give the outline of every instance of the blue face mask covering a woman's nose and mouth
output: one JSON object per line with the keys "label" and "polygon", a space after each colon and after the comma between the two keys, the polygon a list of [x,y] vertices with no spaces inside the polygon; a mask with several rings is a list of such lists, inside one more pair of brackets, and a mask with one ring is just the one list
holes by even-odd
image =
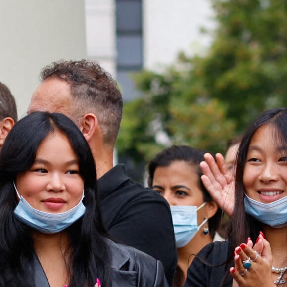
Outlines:
{"label": "blue face mask covering a woman's nose and mouth", "polygon": [[207,222],[208,218],[205,218],[203,222],[197,226],[197,211],[205,204],[206,202],[199,207],[191,205],[176,205],[170,207],[177,248],[187,245],[197,231]]}

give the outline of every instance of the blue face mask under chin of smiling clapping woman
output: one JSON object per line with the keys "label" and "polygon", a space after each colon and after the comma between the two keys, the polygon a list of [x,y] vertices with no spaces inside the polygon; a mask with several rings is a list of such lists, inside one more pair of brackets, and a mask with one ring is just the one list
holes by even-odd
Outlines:
{"label": "blue face mask under chin of smiling clapping woman", "polygon": [[257,219],[273,228],[287,226],[287,196],[270,203],[261,203],[245,193],[245,211]]}

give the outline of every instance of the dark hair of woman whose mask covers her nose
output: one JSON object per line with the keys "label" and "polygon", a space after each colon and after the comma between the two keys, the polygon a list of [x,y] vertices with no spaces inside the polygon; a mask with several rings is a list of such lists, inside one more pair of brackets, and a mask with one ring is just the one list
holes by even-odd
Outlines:
{"label": "dark hair of woman whose mask covers her nose", "polygon": [[[169,166],[174,161],[185,161],[191,167],[195,168],[197,176],[198,176],[198,186],[203,194],[204,202],[212,201],[212,197],[204,187],[201,176],[202,171],[199,166],[201,161],[204,161],[204,153],[207,151],[193,148],[188,145],[173,145],[168,147],[161,152],[159,152],[148,164],[147,172],[148,172],[148,186],[152,188],[152,182],[154,177],[154,172],[159,166]],[[213,238],[215,235],[215,231],[217,230],[220,220],[221,220],[222,210],[220,208],[217,209],[214,216],[208,219],[208,229],[210,232],[210,236]]]}

